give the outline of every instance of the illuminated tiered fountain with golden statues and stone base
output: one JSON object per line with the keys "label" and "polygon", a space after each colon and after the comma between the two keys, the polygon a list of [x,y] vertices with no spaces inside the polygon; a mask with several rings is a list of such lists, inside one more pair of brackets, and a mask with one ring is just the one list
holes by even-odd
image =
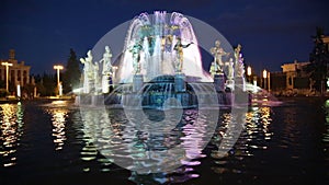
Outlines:
{"label": "illuminated tiered fountain with golden statues and stone base", "polygon": [[122,107],[139,101],[143,107],[161,108],[172,97],[183,107],[195,107],[197,86],[214,88],[217,105],[230,105],[235,86],[246,91],[240,45],[230,54],[216,41],[209,51],[214,56],[211,74],[202,68],[197,39],[184,15],[166,11],[141,13],[131,22],[118,60],[112,63],[109,46],[100,61],[93,61],[90,50],[87,58],[80,59],[84,72],[79,102]]}

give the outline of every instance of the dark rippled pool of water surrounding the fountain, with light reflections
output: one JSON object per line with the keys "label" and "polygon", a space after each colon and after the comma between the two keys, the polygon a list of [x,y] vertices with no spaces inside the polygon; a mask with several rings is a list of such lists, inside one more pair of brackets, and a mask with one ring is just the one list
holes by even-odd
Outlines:
{"label": "dark rippled pool of water surrounding the fountain, with light reflections", "polygon": [[[209,130],[197,109],[184,109],[179,126],[159,135],[136,130],[122,109],[83,112],[56,100],[0,104],[0,184],[328,184],[329,101],[281,101],[249,107],[243,130],[224,158],[218,148],[231,120],[228,109],[219,111],[204,143]],[[158,111],[148,115],[163,117]],[[196,117],[204,129],[193,127]],[[114,163],[175,146],[192,160],[172,160],[182,158],[180,152],[151,157],[159,166],[179,161],[170,173],[140,174]]]}

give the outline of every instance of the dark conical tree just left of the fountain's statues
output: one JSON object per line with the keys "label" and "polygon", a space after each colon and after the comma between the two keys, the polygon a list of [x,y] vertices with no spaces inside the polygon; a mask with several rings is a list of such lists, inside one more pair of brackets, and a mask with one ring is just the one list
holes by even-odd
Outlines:
{"label": "dark conical tree just left of the fountain's statues", "polygon": [[79,88],[81,78],[80,62],[73,49],[70,49],[70,56],[67,60],[66,70],[63,74],[64,93],[71,92]]}

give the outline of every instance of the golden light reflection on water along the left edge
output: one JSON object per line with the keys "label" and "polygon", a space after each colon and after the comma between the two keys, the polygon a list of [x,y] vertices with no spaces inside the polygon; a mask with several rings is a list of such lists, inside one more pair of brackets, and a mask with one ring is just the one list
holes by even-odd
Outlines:
{"label": "golden light reflection on water along the left edge", "polygon": [[16,164],[16,147],[23,134],[23,108],[22,104],[0,105],[0,163],[3,166]]}

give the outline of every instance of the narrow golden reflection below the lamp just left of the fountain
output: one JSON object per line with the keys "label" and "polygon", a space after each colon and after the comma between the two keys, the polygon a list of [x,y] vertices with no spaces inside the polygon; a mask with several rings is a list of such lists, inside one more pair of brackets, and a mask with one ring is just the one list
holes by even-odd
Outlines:
{"label": "narrow golden reflection below the lamp just left of the fountain", "polygon": [[61,150],[66,136],[65,136],[65,124],[68,116],[68,109],[66,107],[66,101],[53,101],[52,106],[47,108],[47,112],[53,116],[53,134],[55,150]]}

